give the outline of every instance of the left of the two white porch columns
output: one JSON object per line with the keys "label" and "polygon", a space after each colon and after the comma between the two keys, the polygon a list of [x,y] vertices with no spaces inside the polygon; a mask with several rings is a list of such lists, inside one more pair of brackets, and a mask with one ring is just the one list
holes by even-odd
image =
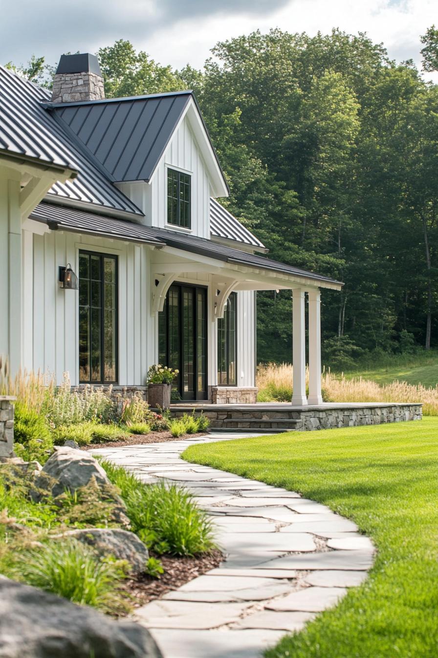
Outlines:
{"label": "left of the two white porch columns", "polygon": [[294,365],[293,405],[307,405],[305,385],[305,306],[304,290],[292,291],[292,359]]}

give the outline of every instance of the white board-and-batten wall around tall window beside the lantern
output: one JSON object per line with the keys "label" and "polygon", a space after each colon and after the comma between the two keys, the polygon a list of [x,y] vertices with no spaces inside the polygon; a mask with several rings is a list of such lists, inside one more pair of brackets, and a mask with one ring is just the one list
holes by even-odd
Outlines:
{"label": "white board-and-batten wall around tall window beside the lantern", "polygon": [[149,247],[62,231],[24,230],[22,248],[22,366],[55,374],[58,384],[69,372],[72,384],[79,383],[78,292],[58,286],[58,266],[70,263],[77,274],[83,249],[118,256],[119,384],[144,384],[148,363],[154,360],[147,340],[154,336],[148,308]]}

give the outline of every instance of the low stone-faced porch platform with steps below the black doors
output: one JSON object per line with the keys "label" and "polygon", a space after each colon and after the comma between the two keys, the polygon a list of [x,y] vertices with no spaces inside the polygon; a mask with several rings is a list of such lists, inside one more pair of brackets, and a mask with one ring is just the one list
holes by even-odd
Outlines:
{"label": "low stone-faced porch platform with steps below the black doors", "polygon": [[171,405],[171,416],[185,413],[209,418],[215,430],[252,432],[287,432],[291,430],[323,430],[386,422],[421,420],[420,403],[321,403],[294,405],[287,402],[257,404],[211,403]]}

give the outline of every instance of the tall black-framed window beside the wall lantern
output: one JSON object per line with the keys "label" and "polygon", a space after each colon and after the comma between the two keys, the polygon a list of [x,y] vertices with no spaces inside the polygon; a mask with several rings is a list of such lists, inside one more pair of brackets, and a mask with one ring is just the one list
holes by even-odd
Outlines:
{"label": "tall black-framed window beside the wall lantern", "polygon": [[118,261],[79,251],[79,382],[118,380]]}

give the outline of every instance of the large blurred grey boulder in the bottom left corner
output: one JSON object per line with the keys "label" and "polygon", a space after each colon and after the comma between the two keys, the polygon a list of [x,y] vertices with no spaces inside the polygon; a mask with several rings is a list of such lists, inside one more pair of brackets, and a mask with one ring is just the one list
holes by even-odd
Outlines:
{"label": "large blurred grey boulder in the bottom left corner", "polygon": [[0,576],[0,658],[162,658],[146,628]]}

